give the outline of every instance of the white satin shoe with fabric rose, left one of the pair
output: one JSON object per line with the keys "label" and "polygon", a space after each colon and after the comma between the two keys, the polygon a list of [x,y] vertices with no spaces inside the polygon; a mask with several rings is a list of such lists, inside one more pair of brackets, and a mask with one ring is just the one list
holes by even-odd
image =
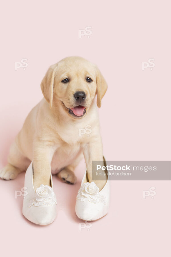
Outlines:
{"label": "white satin shoe with fabric rose, left one of the pair", "polygon": [[56,218],[56,196],[53,192],[52,174],[50,174],[51,186],[41,185],[35,192],[32,163],[25,174],[25,190],[28,194],[23,199],[23,215],[35,224],[48,225]]}

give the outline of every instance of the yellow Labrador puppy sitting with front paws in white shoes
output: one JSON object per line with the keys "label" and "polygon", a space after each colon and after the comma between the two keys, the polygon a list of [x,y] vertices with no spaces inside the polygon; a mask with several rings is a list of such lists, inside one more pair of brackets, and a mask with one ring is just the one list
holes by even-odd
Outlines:
{"label": "yellow Labrador puppy sitting with front paws in white shoes", "polygon": [[[83,154],[89,182],[92,160],[103,160],[97,106],[107,90],[99,69],[82,57],[67,57],[51,65],[41,83],[44,98],[28,114],[15,138],[0,178],[10,180],[33,160],[33,184],[50,185],[50,172],[69,184]],[[89,125],[91,134],[82,134]],[[90,127],[91,126],[91,127]],[[81,134],[81,135],[80,135]],[[101,190],[106,181],[96,181]]]}

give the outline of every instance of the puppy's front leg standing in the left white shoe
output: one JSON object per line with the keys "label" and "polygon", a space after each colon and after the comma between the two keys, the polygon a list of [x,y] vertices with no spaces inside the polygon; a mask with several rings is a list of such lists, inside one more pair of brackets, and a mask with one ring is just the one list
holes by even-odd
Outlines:
{"label": "puppy's front leg standing in the left white shoe", "polygon": [[34,189],[41,184],[50,186],[51,161],[56,151],[54,143],[48,141],[34,142],[33,185]]}

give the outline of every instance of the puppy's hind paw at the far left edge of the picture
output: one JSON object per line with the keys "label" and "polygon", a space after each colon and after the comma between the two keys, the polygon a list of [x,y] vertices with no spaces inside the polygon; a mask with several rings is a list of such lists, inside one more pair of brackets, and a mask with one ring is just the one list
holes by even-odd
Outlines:
{"label": "puppy's hind paw at the far left edge of the picture", "polygon": [[15,179],[18,175],[18,170],[11,164],[7,164],[4,168],[0,170],[0,178],[3,180]]}

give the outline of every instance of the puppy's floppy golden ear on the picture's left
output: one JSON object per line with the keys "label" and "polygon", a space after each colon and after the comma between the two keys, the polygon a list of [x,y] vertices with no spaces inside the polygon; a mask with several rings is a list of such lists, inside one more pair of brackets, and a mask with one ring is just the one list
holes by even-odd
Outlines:
{"label": "puppy's floppy golden ear on the picture's left", "polygon": [[51,65],[46,72],[46,75],[42,79],[42,83],[40,85],[44,98],[49,103],[50,109],[52,108],[53,104],[54,78],[57,68],[58,64]]}

